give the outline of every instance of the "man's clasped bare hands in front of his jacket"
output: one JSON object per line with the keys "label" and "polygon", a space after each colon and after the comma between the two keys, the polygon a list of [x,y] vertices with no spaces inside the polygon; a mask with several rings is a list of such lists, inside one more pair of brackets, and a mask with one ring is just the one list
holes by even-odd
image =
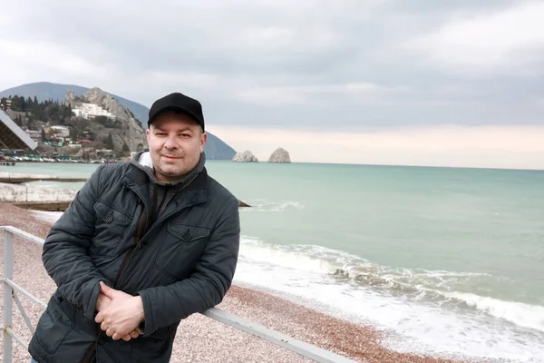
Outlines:
{"label": "man's clasped bare hands in front of his jacket", "polygon": [[140,296],[132,296],[119,289],[112,289],[102,281],[101,293],[96,301],[98,314],[94,321],[113,340],[138,338],[143,332],[139,328],[144,318]]}

